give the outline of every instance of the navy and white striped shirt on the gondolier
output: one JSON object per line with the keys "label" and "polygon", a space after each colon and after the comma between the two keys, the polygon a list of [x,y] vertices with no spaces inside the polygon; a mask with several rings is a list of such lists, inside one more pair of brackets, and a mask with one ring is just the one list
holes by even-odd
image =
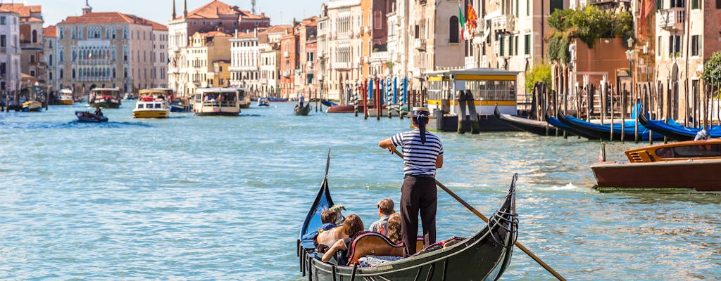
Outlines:
{"label": "navy and white striped shirt on the gondolier", "polygon": [[391,142],[395,147],[403,149],[403,175],[435,176],[435,159],[443,155],[441,139],[425,132],[425,144],[420,142],[420,131],[394,134]]}

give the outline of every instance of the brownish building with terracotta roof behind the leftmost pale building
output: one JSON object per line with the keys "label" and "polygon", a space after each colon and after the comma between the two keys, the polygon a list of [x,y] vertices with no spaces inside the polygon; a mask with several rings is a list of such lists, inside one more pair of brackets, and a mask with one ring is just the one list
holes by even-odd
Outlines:
{"label": "brownish building with terracotta roof behind the leftmost pale building", "polygon": [[[25,4],[0,4],[0,9],[14,11],[19,19],[20,73],[30,83],[45,83],[45,62],[43,61],[43,14],[42,6]],[[26,82],[28,83],[28,82]]]}

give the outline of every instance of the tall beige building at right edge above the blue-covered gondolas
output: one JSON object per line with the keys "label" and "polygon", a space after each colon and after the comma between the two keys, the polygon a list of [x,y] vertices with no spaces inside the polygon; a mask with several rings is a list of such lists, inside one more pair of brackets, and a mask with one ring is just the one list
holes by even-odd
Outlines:
{"label": "tall beige building at right edge above the blue-covered gondolas", "polygon": [[[657,1],[655,86],[663,111],[658,116],[701,120],[704,61],[721,50],[720,1]],[[643,66],[642,63],[637,66]],[[640,77],[642,79],[642,77]],[[653,78],[652,78],[653,79]],[[695,117],[695,118],[694,118]],[[689,123],[689,126],[692,124]]]}

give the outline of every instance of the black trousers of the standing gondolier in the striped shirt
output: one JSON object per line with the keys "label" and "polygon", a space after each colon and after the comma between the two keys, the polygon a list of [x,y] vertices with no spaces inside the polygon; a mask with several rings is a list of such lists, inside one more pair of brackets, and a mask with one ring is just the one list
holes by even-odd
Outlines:
{"label": "black trousers of the standing gondolier in the striped shirt", "polygon": [[403,252],[406,256],[415,254],[418,235],[418,213],[423,225],[425,247],[435,243],[435,211],[438,205],[438,190],[435,178],[406,177],[401,187],[401,233]]}

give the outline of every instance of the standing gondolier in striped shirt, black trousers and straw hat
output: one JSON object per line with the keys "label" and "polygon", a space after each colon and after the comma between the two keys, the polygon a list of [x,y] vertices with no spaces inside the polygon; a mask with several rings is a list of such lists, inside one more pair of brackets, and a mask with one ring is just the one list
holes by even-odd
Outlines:
{"label": "standing gondolier in striped shirt, black trousers and straw hat", "polygon": [[393,153],[396,147],[403,150],[403,185],[400,213],[404,255],[416,252],[418,213],[423,225],[425,247],[435,243],[435,211],[438,190],[435,189],[435,170],[443,167],[441,139],[425,130],[428,108],[414,107],[411,111],[413,130],[381,140],[379,147]]}

